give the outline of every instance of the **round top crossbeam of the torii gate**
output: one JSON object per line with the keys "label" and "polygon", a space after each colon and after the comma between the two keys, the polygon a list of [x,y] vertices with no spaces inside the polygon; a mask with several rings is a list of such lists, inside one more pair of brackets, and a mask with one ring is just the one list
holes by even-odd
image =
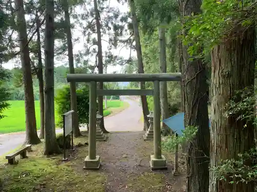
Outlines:
{"label": "round top crossbeam of the torii gate", "polygon": [[136,74],[67,74],[67,81],[76,82],[139,82],[180,81],[181,73],[136,73]]}

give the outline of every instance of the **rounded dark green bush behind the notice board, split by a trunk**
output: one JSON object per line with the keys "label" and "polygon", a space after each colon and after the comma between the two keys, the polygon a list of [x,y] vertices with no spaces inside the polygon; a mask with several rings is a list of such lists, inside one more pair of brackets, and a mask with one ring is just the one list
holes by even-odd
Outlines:
{"label": "rounded dark green bush behind the notice board, split by a trunk", "polygon": [[[77,104],[78,104],[78,116],[79,124],[88,123],[89,115],[89,90],[88,87],[82,87],[77,89]],[[70,87],[64,86],[57,91],[57,96],[55,97],[57,105],[57,113],[59,116],[58,125],[63,125],[62,114],[70,111]]]}

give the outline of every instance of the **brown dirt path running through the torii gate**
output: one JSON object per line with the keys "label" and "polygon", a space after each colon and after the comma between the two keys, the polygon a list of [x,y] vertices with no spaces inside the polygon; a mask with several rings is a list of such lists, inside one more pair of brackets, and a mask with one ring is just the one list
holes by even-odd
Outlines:
{"label": "brown dirt path running through the torii gate", "polygon": [[97,154],[102,161],[101,169],[107,175],[105,191],[185,191],[185,177],[172,175],[172,154],[165,154],[168,170],[150,170],[153,141],[143,141],[143,134],[144,132],[113,132],[109,134],[107,141],[97,143]]}

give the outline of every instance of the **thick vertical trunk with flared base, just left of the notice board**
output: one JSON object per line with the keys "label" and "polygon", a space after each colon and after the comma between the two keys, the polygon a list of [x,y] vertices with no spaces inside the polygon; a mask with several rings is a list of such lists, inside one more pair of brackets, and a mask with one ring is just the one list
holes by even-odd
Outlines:
{"label": "thick vertical trunk with flared base, just left of the notice board", "polygon": [[45,1],[45,147],[44,155],[60,154],[54,122],[54,3]]}

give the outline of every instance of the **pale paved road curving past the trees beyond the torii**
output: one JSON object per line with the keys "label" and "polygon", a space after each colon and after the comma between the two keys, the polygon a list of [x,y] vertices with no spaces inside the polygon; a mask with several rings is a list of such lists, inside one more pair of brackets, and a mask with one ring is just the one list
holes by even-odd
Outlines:
{"label": "pale paved road curving past the trees beyond the torii", "polygon": [[[143,124],[140,122],[142,115],[141,107],[137,101],[126,99],[130,106],[111,117],[104,118],[107,131],[142,131]],[[82,128],[83,129],[83,128]],[[39,135],[40,132],[38,132]],[[56,133],[62,133],[62,130],[56,130]],[[0,156],[21,146],[25,140],[25,133],[0,134]]]}

